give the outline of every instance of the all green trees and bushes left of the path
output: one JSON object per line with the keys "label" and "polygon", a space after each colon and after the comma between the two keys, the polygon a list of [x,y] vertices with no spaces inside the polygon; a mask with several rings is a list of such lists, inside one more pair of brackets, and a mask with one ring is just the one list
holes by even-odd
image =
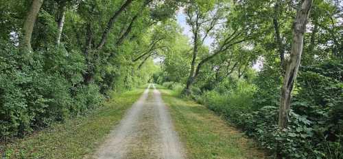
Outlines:
{"label": "all green trees and bushes left of the path", "polygon": [[84,115],[111,92],[147,83],[158,70],[150,57],[175,41],[169,18],[176,9],[150,0],[2,0],[1,141]]}

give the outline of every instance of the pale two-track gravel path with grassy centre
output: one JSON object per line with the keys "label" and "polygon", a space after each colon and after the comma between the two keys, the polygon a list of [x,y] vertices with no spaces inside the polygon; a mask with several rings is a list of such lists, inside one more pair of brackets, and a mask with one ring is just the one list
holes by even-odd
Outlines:
{"label": "pale two-track gravel path with grassy centre", "polygon": [[149,85],[93,157],[183,159],[182,149],[161,93]]}

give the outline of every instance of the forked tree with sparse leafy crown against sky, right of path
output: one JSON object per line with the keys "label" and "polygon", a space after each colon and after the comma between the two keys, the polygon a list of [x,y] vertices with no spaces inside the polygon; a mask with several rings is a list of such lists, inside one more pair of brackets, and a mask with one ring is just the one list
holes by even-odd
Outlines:
{"label": "forked tree with sparse leafy crown against sky, right of path", "polygon": [[[184,90],[184,93],[190,94],[191,86],[200,74],[202,66],[217,57],[217,55],[225,53],[231,46],[248,40],[249,35],[247,35],[246,28],[232,27],[227,22],[226,16],[228,15],[225,13],[228,12],[228,3],[190,4],[185,12],[187,14],[187,23],[191,26],[193,33],[191,70]],[[226,25],[222,25],[223,23],[226,23]],[[224,31],[219,31],[218,28]],[[199,49],[210,34],[217,35],[215,37],[216,48],[206,52],[205,55],[202,55],[202,59],[197,62]]]}

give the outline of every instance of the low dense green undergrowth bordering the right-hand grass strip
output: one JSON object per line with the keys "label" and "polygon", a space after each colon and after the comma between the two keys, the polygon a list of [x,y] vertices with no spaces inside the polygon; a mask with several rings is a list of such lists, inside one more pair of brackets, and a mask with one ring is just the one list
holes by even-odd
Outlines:
{"label": "low dense green undergrowth bordering the right-hand grass strip", "polygon": [[[343,158],[343,65],[325,61],[301,68],[289,113],[279,130],[279,78],[263,68],[246,78],[228,78],[213,89],[193,88],[193,98],[222,115],[248,136],[285,158]],[[265,76],[269,76],[268,81]],[[274,80],[273,80],[274,79]],[[181,92],[180,83],[163,83]],[[279,149],[277,149],[279,148]]]}

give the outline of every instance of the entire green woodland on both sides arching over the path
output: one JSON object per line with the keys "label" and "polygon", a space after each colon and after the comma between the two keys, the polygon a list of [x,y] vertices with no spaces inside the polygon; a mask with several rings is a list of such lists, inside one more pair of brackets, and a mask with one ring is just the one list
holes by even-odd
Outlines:
{"label": "entire green woodland on both sides arching over the path", "polygon": [[1,143],[154,82],[276,158],[343,158],[340,0],[1,0],[0,14]]}

